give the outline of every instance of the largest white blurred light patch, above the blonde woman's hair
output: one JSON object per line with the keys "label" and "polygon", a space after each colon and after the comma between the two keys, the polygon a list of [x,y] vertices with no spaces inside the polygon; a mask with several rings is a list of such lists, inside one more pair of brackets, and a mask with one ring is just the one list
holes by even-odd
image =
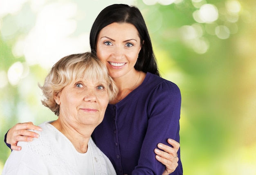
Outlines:
{"label": "largest white blurred light patch, above the blonde woman's hair", "polygon": [[40,64],[43,68],[49,68],[65,55],[90,49],[87,33],[70,36],[76,31],[77,22],[72,19],[76,14],[77,4],[71,2],[42,7],[35,27],[24,40],[23,52],[29,65]]}

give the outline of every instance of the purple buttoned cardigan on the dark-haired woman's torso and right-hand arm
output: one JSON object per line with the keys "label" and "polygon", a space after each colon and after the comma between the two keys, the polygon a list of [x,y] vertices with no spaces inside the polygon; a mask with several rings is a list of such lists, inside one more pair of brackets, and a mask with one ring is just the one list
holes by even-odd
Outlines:
{"label": "purple buttoned cardigan on the dark-haired woman's torso and right-hand arm", "polygon": [[[147,73],[126,98],[108,105],[92,137],[118,175],[162,175],[165,166],[155,159],[154,149],[160,142],[168,145],[168,138],[180,142],[180,105],[177,85]],[[182,175],[178,164],[171,175]]]}

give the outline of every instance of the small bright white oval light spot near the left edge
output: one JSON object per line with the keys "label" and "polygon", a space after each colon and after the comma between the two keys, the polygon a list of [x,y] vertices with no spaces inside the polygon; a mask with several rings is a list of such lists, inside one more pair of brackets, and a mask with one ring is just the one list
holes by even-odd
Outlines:
{"label": "small bright white oval light spot near the left edge", "polygon": [[16,62],[8,70],[7,76],[11,85],[17,85],[22,77],[23,65],[20,62]]}

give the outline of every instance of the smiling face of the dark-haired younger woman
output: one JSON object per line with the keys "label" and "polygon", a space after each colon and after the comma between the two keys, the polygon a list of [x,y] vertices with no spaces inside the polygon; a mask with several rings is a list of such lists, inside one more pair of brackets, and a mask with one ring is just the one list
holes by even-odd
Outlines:
{"label": "smiling face of the dark-haired younger woman", "polygon": [[130,23],[113,22],[99,32],[97,56],[106,65],[112,78],[135,71],[140,49],[139,33]]}

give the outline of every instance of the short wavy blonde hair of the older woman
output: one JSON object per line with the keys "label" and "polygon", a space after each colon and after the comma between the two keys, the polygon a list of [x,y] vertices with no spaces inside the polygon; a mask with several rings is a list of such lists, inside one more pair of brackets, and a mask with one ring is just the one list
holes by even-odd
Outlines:
{"label": "short wavy blonde hair of the older woman", "polygon": [[108,75],[106,66],[101,63],[95,54],[85,52],[65,56],[52,67],[45,78],[44,85],[38,85],[43,91],[43,96],[45,96],[45,99],[41,100],[43,105],[58,116],[60,106],[56,103],[54,96],[58,95],[65,86],[74,83],[81,77],[106,81],[109,101],[115,98],[118,89],[115,82]]}

